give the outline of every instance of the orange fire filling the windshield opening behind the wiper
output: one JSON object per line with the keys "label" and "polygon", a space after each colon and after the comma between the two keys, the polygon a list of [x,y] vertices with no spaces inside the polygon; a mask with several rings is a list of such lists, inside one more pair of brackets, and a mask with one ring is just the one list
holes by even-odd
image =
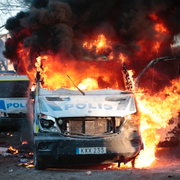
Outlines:
{"label": "orange fire filling the windshield opening behind the wiper", "polygon": [[[76,85],[84,84],[86,79],[86,82],[89,84],[93,82],[94,85],[91,85],[90,89],[118,89],[117,76],[119,76],[121,71],[121,64],[119,62],[69,60],[65,63],[59,61],[59,58],[59,56],[53,55],[38,57],[36,66],[38,66],[38,71],[40,71],[42,77],[41,82],[43,83],[41,86],[43,88],[49,90],[62,87],[74,89],[73,84],[67,78],[68,75]],[[112,67],[112,69],[109,69],[109,67]],[[82,84],[80,86],[82,86]],[[89,85],[87,85],[87,87],[89,87]]]}

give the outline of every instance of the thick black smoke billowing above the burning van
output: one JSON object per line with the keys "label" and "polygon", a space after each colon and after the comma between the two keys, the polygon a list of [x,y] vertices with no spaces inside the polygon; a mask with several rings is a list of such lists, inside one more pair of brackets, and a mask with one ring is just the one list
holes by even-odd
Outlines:
{"label": "thick black smoke billowing above the burning van", "polygon": [[[6,29],[14,34],[6,42],[4,55],[13,62],[19,42],[30,49],[33,57],[52,51],[77,60],[84,56],[96,58],[82,44],[104,34],[113,42],[105,55],[112,51],[117,56],[125,53],[130,68],[142,69],[150,59],[147,52],[142,58],[136,56],[142,50],[137,42],[147,41],[151,48],[149,42],[157,39],[155,23],[163,23],[170,33],[163,39],[160,53],[151,58],[171,55],[169,45],[180,32],[179,0],[26,0],[26,3],[31,3],[28,12],[20,12],[6,22]],[[158,20],[150,18],[150,14],[156,14]],[[28,33],[17,35],[23,29],[28,29]]]}

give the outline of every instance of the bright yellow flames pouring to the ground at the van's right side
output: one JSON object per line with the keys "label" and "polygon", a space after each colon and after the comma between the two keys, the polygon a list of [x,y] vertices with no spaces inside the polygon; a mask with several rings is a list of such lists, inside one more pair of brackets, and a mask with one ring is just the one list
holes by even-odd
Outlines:
{"label": "bright yellow flames pouring to the ground at the van's right side", "polygon": [[[144,150],[136,158],[136,168],[147,168],[155,161],[155,152],[160,140],[157,130],[168,126],[171,118],[178,116],[180,111],[180,95],[178,94],[180,80],[173,80],[172,85],[165,87],[160,93],[139,95],[136,100],[139,110],[139,125],[144,142]],[[166,96],[169,94],[169,96]],[[131,167],[131,163],[121,167]]]}

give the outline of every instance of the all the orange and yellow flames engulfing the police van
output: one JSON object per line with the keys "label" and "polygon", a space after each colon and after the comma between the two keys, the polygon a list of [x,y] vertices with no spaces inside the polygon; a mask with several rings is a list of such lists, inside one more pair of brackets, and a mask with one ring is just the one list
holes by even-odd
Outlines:
{"label": "all the orange and yellow flames engulfing the police van", "polygon": [[[137,45],[140,48],[134,52],[133,65],[137,64],[137,59],[145,59],[146,61],[143,62],[145,65],[150,59],[158,57],[161,43],[168,36],[169,31],[159,21],[158,17],[155,14],[151,14],[150,18],[154,21],[156,36],[153,39],[146,37],[137,40]],[[25,29],[22,33],[28,36],[30,32],[26,32]],[[36,71],[39,71],[42,78],[41,86],[49,90],[61,87],[75,89],[67,75],[82,90],[102,88],[122,89],[123,77],[121,66],[122,63],[127,63],[127,65],[132,67],[133,65],[131,65],[129,60],[132,57],[128,57],[125,50],[118,53],[117,51],[114,52],[113,43],[107,40],[103,34],[99,34],[96,40],[87,40],[82,46],[88,52],[90,51],[92,56],[84,57],[86,61],[77,61],[73,58],[66,59],[67,57],[54,54],[51,51],[47,51],[38,58],[34,58],[37,54],[31,55],[30,50],[23,48],[22,43],[19,43],[17,53],[18,59],[21,59],[21,61],[18,62],[18,67],[28,74],[32,83],[35,81]],[[128,72],[132,80],[133,71]],[[160,140],[157,129],[166,127],[168,121],[172,117],[177,116],[180,109],[178,105],[180,97],[177,93],[178,91],[175,92],[174,88],[176,87],[177,89],[178,83],[179,81],[172,81],[171,87],[166,87],[164,91],[153,96],[149,94],[136,95],[140,131],[145,145],[145,149],[141,151],[136,159],[136,167],[149,167],[152,164],[155,160],[156,146]],[[167,93],[168,96],[163,95]]]}

